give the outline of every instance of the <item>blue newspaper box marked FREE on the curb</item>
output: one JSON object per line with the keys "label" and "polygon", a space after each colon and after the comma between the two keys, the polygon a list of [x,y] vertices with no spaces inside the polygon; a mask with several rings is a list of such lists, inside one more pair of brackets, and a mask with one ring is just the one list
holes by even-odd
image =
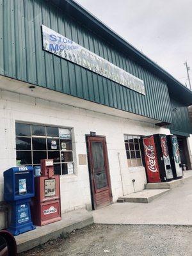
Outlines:
{"label": "blue newspaper box marked FREE on the curb", "polygon": [[4,201],[12,205],[8,228],[13,236],[35,229],[31,221],[30,201],[34,196],[33,166],[13,167],[4,173]]}

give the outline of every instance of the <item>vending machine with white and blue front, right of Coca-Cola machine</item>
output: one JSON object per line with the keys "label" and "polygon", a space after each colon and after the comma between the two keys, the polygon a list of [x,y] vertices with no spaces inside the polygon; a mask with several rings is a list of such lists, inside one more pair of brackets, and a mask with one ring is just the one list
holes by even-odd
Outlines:
{"label": "vending machine with white and blue front, right of Coca-Cola machine", "polygon": [[172,171],[174,179],[182,178],[182,164],[180,160],[179,143],[177,136],[168,135],[166,136],[168,141],[168,150],[170,154],[170,160],[172,163]]}

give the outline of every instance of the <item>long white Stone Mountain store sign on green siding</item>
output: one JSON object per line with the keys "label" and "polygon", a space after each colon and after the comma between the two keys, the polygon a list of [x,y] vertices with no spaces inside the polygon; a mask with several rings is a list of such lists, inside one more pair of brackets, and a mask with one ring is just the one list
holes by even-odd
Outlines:
{"label": "long white Stone Mountain store sign on green siding", "polygon": [[77,65],[92,70],[100,76],[107,77],[116,83],[122,84],[127,88],[145,95],[143,80],[132,76],[122,68],[101,58],[97,54],[85,49],[67,37],[56,33],[56,31],[42,25],[43,45],[45,51],[52,52],[72,61]]}

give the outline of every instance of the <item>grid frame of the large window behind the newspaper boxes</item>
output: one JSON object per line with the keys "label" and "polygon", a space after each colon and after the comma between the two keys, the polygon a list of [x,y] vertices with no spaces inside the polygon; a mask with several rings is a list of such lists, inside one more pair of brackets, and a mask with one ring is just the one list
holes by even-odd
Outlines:
{"label": "grid frame of the large window behind the newspaper boxes", "polygon": [[[23,135],[17,135],[17,132],[16,132],[16,124],[24,124],[24,125],[30,125],[30,132],[31,132],[31,136],[23,136]],[[45,127],[45,135],[33,135],[32,134],[32,126],[33,125],[37,125],[37,126],[42,126],[42,127]],[[57,136],[47,136],[47,127],[53,127],[53,128],[57,128],[58,129],[58,137]],[[60,138],[60,135],[59,135],[59,129],[68,129],[70,130],[70,138]],[[58,126],[58,125],[48,125],[48,124],[36,124],[36,123],[28,123],[28,122],[20,122],[20,121],[15,121],[15,150],[16,150],[16,166],[19,166],[17,165],[17,152],[31,152],[31,164],[22,164],[23,166],[29,166],[29,165],[32,165],[32,166],[39,166],[40,164],[36,164],[34,163],[34,159],[33,159],[33,152],[46,152],[46,157],[48,159],[48,155],[49,155],[49,152],[60,152],[60,161],[59,162],[54,162],[53,164],[54,165],[58,165],[60,164],[60,173],[59,174],[60,176],[63,176],[63,175],[72,175],[75,173],[75,170],[74,170],[74,166],[75,166],[75,161],[74,161],[74,141],[73,141],[73,138],[72,138],[72,127],[61,127],[61,126]],[[30,138],[30,141],[31,141],[31,149],[17,149],[17,139],[19,138]],[[45,145],[46,145],[46,149],[40,149],[40,150],[36,150],[36,149],[33,149],[33,138],[44,138],[45,139]],[[58,140],[58,145],[59,145],[59,148],[57,149],[48,149],[48,140],[49,139],[52,139],[52,140]],[[70,140],[70,143],[71,143],[71,150],[63,150],[61,148],[61,141],[65,141],[65,140]],[[61,161],[61,154],[62,152],[72,152],[72,161]],[[62,164],[68,164],[68,163],[72,163],[73,164],[73,173],[64,173],[64,170],[62,170]]]}

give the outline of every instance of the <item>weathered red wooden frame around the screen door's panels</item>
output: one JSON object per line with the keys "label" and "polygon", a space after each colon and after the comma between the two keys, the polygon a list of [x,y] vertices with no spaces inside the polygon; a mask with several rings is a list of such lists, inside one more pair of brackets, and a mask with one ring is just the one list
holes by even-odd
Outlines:
{"label": "weathered red wooden frame around the screen door's panels", "polygon": [[[97,205],[95,202],[95,191],[99,192],[99,191],[104,191],[109,189],[109,200],[110,200],[110,204],[113,202],[113,195],[112,195],[112,190],[111,190],[111,177],[110,177],[110,170],[109,170],[109,158],[108,158],[108,148],[107,148],[107,143],[106,143],[106,136],[102,136],[102,135],[97,135],[97,136],[90,136],[90,134],[85,134],[86,137],[86,150],[87,150],[87,158],[88,158],[88,172],[89,172],[89,178],[90,178],[90,191],[91,191],[91,197],[92,197],[92,210],[97,209]],[[105,158],[105,162],[106,162],[106,170],[108,170],[108,172],[106,172],[106,177],[107,177],[107,181],[108,181],[108,187],[109,188],[101,188],[101,189],[97,189],[95,188],[95,183],[93,182],[92,179],[92,170],[91,170],[91,152],[90,152],[90,147],[88,144],[88,138],[103,138],[104,139],[104,151],[106,152],[104,158]],[[97,141],[97,140],[96,140]],[[93,189],[95,189],[95,191],[93,191]]]}

